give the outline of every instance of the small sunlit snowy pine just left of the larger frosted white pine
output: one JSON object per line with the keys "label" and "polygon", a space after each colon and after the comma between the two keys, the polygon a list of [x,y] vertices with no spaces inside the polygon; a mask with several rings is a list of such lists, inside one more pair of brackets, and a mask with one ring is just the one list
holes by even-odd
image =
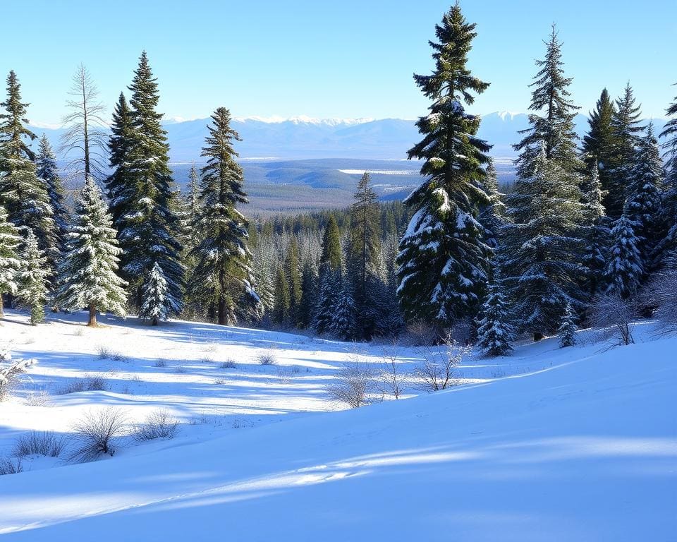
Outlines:
{"label": "small sunlit snowy pine just left of the larger frosted white pine", "polygon": [[30,229],[21,252],[23,263],[19,272],[18,298],[23,306],[30,309],[30,323],[37,325],[44,322],[51,270],[47,258],[37,246],[37,237]]}

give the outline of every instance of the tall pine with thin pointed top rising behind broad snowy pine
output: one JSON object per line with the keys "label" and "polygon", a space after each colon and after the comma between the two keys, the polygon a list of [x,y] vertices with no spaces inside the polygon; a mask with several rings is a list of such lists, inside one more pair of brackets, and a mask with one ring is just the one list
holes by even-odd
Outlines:
{"label": "tall pine with thin pointed top rising behind broad snowy pine", "polygon": [[516,166],[518,176],[522,178],[533,174],[541,150],[549,162],[563,171],[577,171],[581,167],[573,123],[580,108],[570,98],[568,87],[573,79],[564,76],[561,47],[555,25],[552,25],[545,58],[536,61],[540,69],[530,85],[535,87],[529,106],[533,112],[529,115],[531,126],[520,131],[524,137],[514,145],[515,150],[520,151]]}

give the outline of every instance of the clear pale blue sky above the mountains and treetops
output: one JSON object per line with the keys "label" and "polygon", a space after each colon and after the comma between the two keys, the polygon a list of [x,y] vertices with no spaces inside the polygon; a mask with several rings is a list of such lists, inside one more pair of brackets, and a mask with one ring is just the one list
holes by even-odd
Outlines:
{"label": "clear pale blue sky above the mountains and treetops", "polygon": [[[31,121],[58,123],[76,66],[102,100],[126,90],[142,49],[167,116],[399,117],[425,114],[412,73],[432,67],[427,40],[451,0],[8,2],[2,77],[14,69]],[[677,87],[677,0],[463,0],[477,23],[470,54],[492,83],[472,112],[524,112],[534,59],[559,26],[575,101],[587,112],[627,80],[646,117]],[[4,86],[4,85],[3,85]]]}

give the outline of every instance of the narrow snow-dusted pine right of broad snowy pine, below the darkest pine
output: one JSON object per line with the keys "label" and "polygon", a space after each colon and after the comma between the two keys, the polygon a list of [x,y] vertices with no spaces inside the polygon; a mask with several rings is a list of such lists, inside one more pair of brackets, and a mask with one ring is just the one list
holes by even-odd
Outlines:
{"label": "narrow snow-dusted pine right of broad snowy pine, below the darkest pine", "polygon": [[583,203],[583,239],[585,253],[583,266],[587,270],[587,290],[590,296],[599,291],[606,265],[605,254],[609,248],[609,219],[602,201],[606,192],[602,189],[597,164],[590,166],[590,174],[583,177],[580,186]]}

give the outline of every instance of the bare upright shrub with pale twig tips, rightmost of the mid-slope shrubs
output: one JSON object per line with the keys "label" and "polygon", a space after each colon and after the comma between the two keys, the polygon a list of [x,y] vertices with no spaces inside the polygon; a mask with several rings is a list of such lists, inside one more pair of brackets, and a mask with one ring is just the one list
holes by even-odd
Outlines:
{"label": "bare upright shrub with pale twig tips, rightmost of the mid-slope shrubs", "polygon": [[447,334],[443,346],[425,347],[420,351],[423,363],[415,369],[415,382],[421,390],[437,392],[458,385],[456,367],[470,354],[471,347],[461,346]]}

